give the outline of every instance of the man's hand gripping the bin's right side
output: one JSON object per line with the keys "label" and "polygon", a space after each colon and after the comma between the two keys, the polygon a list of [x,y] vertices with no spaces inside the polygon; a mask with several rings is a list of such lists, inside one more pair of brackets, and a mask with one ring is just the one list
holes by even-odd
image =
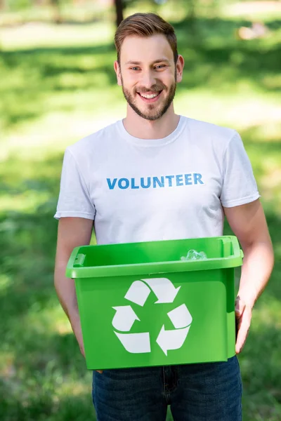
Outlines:
{"label": "man's hand gripping the bin's right side", "polygon": [[235,352],[239,354],[244,347],[251,324],[251,307],[247,306],[239,295],[235,300],[235,318],[237,326]]}

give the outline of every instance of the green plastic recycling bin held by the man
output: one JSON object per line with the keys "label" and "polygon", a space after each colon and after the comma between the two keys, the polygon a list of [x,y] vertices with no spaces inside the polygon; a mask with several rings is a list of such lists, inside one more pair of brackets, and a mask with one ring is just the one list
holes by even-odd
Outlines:
{"label": "green plastic recycling bin held by the man", "polygon": [[[181,260],[189,250],[202,260]],[[74,248],[89,369],[226,361],[235,355],[235,236]]]}

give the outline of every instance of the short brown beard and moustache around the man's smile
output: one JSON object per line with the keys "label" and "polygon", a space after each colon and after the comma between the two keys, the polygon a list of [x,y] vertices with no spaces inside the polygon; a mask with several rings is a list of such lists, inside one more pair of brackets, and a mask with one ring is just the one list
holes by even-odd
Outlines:
{"label": "short brown beard and moustache around the man's smile", "polygon": [[[174,96],[176,94],[176,74],[175,74],[174,83],[171,84],[170,88],[167,88],[167,86],[164,85],[164,83],[159,81],[158,83],[155,83],[155,85],[152,85],[150,89],[139,88],[137,90],[135,88],[133,90],[133,93],[131,93],[128,89],[124,87],[122,75],[121,75],[121,80],[122,80],[122,91],[126,99],[126,102],[128,102],[129,106],[133,109],[134,112],[136,112],[136,114],[138,114],[138,116],[142,117],[145,120],[153,121],[153,120],[160,119],[165,114],[167,109],[169,109],[171,103],[174,100]],[[138,93],[146,93],[146,92],[159,93],[159,91],[166,91],[168,93],[166,98],[162,100],[162,103],[161,104],[153,104],[153,103],[146,104],[147,111],[142,112],[141,109],[139,109],[138,106],[136,105],[136,99],[135,99],[136,95],[138,95]]]}

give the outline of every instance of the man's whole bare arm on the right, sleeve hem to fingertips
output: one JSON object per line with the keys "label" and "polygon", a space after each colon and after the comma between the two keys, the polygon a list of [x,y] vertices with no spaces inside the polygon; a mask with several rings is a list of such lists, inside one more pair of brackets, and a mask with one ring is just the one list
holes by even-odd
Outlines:
{"label": "man's whole bare arm on the right, sleeve hem to fingertips", "polygon": [[251,310],[266,287],[273,270],[273,246],[266,217],[258,200],[224,208],[226,218],[244,252],[240,287],[235,303],[237,354],[242,350],[251,323]]}

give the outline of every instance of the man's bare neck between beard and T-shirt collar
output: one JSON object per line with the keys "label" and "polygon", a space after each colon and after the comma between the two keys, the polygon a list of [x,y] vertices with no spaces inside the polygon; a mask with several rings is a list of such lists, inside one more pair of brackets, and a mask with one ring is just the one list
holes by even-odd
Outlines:
{"label": "man's bare neck between beard and T-shirt collar", "polygon": [[163,139],[176,130],[180,116],[174,113],[174,107],[171,105],[167,112],[154,121],[143,119],[136,112],[127,106],[127,115],[123,120],[126,131],[140,139]]}

